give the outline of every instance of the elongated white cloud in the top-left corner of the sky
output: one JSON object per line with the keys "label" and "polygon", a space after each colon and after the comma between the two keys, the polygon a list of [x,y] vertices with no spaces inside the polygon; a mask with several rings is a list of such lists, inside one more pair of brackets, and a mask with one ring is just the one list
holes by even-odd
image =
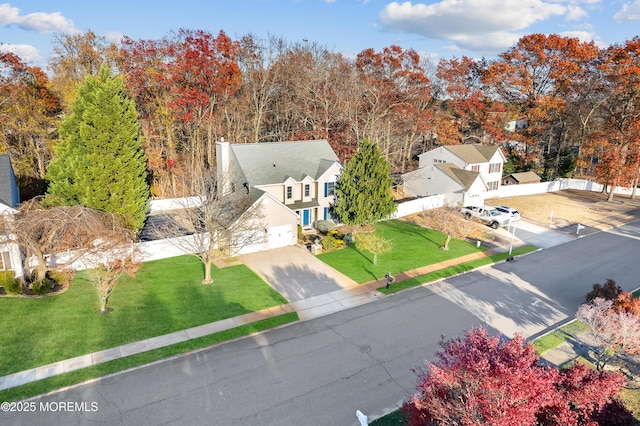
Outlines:
{"label": "elongated white cloud in the top-left corner of the sky", "polygon": [[20,15],[20,9],[12,7],[9,3],[0,4],[0,26],[15,25],[26,31],[38,33],[76,33],[71,19],[65,18],[60,12],[35,12]]}

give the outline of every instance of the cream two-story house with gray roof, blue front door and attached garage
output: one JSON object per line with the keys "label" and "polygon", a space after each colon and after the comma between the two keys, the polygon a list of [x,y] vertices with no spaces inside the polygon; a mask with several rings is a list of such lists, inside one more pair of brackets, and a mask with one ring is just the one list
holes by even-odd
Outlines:
{"label": "cream two-story house with gray roof, blue front door and attached garage", "polygon": [[250,191],[254,205],[263,206],[264,241],[242,252],[293,245],[298,225],[311,229],[316,221],[331,219],[342,165],[326,140],[216,142],[216,162],[223,192]]}

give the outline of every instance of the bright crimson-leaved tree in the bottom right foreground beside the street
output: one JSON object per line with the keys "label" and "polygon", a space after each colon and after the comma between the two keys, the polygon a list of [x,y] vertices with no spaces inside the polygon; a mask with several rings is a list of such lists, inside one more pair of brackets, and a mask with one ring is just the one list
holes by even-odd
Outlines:
{"label": "bright crimson-leaved tree in the bottom right foreground beside the street", "polygon": [[479,328],[440,345],[403,406],[410,425],[594,424],[624,383],[619,373],[545,367],[520,335],[507,340]]}

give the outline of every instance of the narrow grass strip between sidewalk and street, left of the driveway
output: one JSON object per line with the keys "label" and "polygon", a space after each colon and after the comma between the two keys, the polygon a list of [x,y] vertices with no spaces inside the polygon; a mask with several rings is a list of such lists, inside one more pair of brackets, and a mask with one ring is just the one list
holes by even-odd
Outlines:
{"label": "narrow grass strip between sidewalk and street, left of the driveway", "polygon": [[15,388],[6,389],[4,391],[0,391],[0,401],[16,401],[34,395],[39,395],[61,387],[81,383],[107,374],[117,373],[119,371],[144,365],[149,362],[158,361],[180,353],[206,348],[218,343],[247,336],[252,333],[295,322],[297,320],[298,314],[296,312],[279,315],[277,317],[267,318],[262,321],[257,321],[255,323],[221,331],[219,333],[203,336],[197,339],[188,340],[186,342],[177,343],[175,345],[166,346],[164,348],[154,349],[126,358],[116,359],[104,364],[87,367],[82,370],[76,370]]}

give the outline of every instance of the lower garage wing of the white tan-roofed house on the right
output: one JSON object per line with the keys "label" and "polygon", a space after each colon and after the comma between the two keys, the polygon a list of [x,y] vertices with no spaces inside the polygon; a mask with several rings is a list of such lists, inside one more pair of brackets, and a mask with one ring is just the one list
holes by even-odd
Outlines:
{"label": "lower garage wing of the white tan-roofed house on the right", "polygon": [[453,163],[433,164],[404,174],[404,193],[409,197],[444,195],[449,206],[481,206],[487,183],[480,172],[463,170]]}

